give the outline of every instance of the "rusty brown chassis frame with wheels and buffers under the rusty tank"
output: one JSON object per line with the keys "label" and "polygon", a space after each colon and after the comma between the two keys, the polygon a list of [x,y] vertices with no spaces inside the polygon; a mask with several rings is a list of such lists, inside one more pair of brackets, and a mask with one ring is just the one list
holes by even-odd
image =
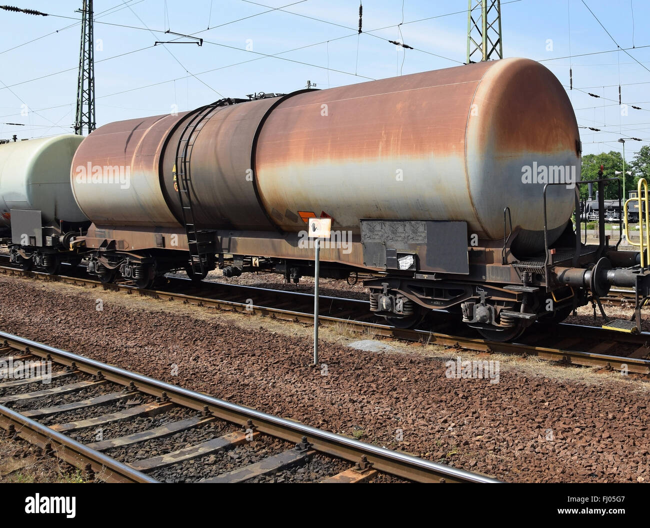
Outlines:
{"label": "rusty brown chassis frame with wheels and buffers under the rusty tank", "polygon": [[[599,199],[604,199],[604,184],[612,180],[591,181],[599,184]],[[650,295],[650,271],[638,265],[640,253],[619,251],[620,240],[609,244],[604,234],[604,208],[600,209],[599,244],[583,244],[577,191],[576,227],[569,221],[564,233],[550,245],[549,185],[544,187],[544,210],[540,212],[544,218],[543,254],[523,260],[513,255],[512,245],[520,233],[519,228],[512,228],[508,207],[504,209],[503,240],[478,238],[472,242],[464,222],[362,220],[361,235],[353,236],[348,254],[337,248],[322,249],[323,276],[348,277],[349,283],[352,275],[356,280],[359,273],[365,274],[369,277],[363,284],[370,290],[370,311],[391,325],[411,327],[432,310],[447,310],[493,340],[512,340],[537,320],[562,321],[590,301],[612,325],[600,298],[613,285],[634,286],[638,296],[635,321],[617,321],[614,327],[638,331],[640,308]],[[430,239],[434,242],[436,237],[455,235],[442,243],[426,244],[425,240],[422,244],[423,230],[436,234]],[[408,236],[398,236],[400,242],[393,244],[395,238],[385,234],[391,231]],[[294,283],[313,274],[312,252],[300,249],[297,233],[219,230],[207,234],[213,258],[203,263],[205,273],[216,266],[226,277],[265,271],[281,273]],[[185,269],[192,277],[192,251],[187,234],[179,229],[148,232],[93,225],[75,244],[81,254],[90,257],[89,271],[102,280],[111,281],[118,271],[140,287],[172,270]]]}

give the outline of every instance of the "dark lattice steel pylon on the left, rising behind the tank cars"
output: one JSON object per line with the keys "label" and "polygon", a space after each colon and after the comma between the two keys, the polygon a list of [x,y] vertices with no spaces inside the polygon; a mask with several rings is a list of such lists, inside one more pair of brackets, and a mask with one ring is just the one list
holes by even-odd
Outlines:
{"label": "dark lattice steel pylon on the left, rising behind the tank cars", "polygon": [[75,134],[94,131],[95,125],[95,58],[92,29],[92,0],[83,0],[81,12],[81,50],[79,51],[79,77],[77,79],[77,112]]}

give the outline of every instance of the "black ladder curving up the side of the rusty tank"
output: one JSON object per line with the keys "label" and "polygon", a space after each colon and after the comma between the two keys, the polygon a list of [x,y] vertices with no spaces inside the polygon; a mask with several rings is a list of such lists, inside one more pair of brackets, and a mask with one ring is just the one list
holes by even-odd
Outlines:
{"label": "black ladder curving up the side of the rusty tank", "polygon": [[190,268],[194,275],[201,277],[205,276],[207,271],[209,271],[207,270],[207,265],[208,259],[214,256],[214,241],[211,236],[213,231],[199,229],[196,225],[194,210],[192,208],[190,158],[192,157],[192,149],[196,138],[198,138],[203,125],[209,120],[207,119],[208,116],[214,108],[222,107],[228,103],[229,99],[220,99],[216,103],[200,108],[188,121],[187,125],[185,125],[185,129],[181,133],[181,139],[176,148],[176,190],[181,204],[183,225],[187,234],[187,245],[190,251]]}

